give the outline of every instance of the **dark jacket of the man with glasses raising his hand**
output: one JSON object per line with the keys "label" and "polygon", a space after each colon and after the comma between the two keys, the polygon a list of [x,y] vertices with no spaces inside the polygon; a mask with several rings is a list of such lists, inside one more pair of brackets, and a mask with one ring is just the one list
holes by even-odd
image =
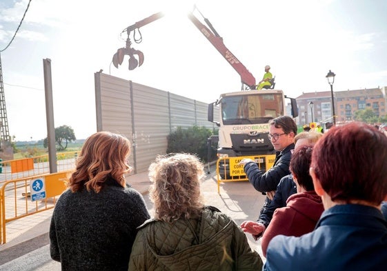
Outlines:
{"label": "dark jacket of the man with glasses raising his hand", "polygon": [[255,162],[246,163],[244,165],[244,172],[248,177],[248,181],[259,192],[274,191],[277,189],[277,185],[282,177],[290,174],[289,165],[292,152],[295,148],[295,144],[291,143],[281,152],[277,152],[275,157],[275,163],[272,167],[264,172],[258,168]]}

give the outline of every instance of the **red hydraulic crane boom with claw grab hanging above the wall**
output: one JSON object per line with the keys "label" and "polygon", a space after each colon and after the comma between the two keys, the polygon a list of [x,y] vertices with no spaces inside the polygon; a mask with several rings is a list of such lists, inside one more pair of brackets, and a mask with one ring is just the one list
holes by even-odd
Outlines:
{"label": "red hydraulic crane boom with claw grab hanging above the wall", "polygon": [[[199,11],[199,10],[198,10]],[[201,12],[199,12],[201,14]],[[118,68],[119,65],[123,62],[123,57],[128,54],[129,59],[129,70],[134,70],[137,68],[137,66],[141,66],[143,63],[143,53],[139,50],[135,50],[135,48],[132,48],[132,42],[130,41],[130,33],[133,31],[133,38],[135,39],[136,43],[141,42],[141,32],[139,32],[139,28],[142,26],[146,26],[148,23],[152,23],[153,21],[156,21],[157,19],[160,19],[163,17],[164,14],[162,12],[157,12],[155,14],[152,14],[150,17],[147,17],[146,19],[143,19],[141,21],[137,21],[137,23],[133,24],[132,26],[128,26],[128,28],[124,29],[122,32],[127,32],[128,39],[126,40],[126,47],[125,48],[119,48],[117,52],[114,54],[112,62],[113,65]],[[204,18],[203,14],[201,16]],[[256,82],[255,77],[252,76],[252,74],[248,71],[248,69],[235,57],[230,50],[224,45],[223,39],[219,37],[219,34],[217,31],[212,27],[210,21],[208,19],[204,18],[204,21],[208,24],[209,28],[204,26],[197,17],[193,14],[193,12],[190,12],[188,14],[188,19],[192,21],[192,23],[199,29],[201,34],[204,34],[204,36],[210,41],[212,46],[214,46],[218,52],[228,61],[228,63],[234,68],[238,74],[241,77],[241,83],[245,86],[245,88],[255,88]],[[136,39],[136,30],[139,32],[139,39]],[[138,55],[139,61],[135,58],[135,54]]]}

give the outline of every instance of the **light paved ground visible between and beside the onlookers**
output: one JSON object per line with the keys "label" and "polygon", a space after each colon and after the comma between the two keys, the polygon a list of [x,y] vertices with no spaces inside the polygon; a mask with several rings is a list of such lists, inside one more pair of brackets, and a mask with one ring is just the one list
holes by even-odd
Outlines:
{"label": "light paved ground visible between and beside the onlookers", "polygon": [[[202,183],[202,192],[206,199],[206,204],[219,208],[222,212],[230,215],[238,224],[245,220],[255,221],[261,206],[264,204],[264,196],[255,191],[247,181],[222,183],[220,194],[218,194],[214,171],[212,168],[211,173],[208,174],[208,177]],[[152,214],[153,208],[148,194],[145,194],[143,197]],[[32,241],[29,244],[32,251],[30,250],[16,259],[11,257],[11,261],[0,265],[0,270],[61,270],[60,263],[50,259],[50,247],[48,245],[47,234],[45,237],[41,237],[41,239],[39,241],[39,248],[36,248],[37,244]],[[248,234],[248,241],[252,248],[261,254],[259,241],[254,241],[250,234]],[[26,246],[29,245],[27,244]],[[261,257],[264,259],[262,254]]]}

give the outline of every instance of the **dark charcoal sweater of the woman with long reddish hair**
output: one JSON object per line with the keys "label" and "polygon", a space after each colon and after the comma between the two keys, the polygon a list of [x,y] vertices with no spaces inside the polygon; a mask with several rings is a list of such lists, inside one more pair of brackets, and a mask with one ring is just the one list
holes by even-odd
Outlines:
{"label": "dark charcoal sweater of the woman with long reddish hair", "polygon": [[50,224],[50,254],[61,270],[128,270],[137,227],[149,219],[142,195],[106,181],[99,193],[66,190]]}

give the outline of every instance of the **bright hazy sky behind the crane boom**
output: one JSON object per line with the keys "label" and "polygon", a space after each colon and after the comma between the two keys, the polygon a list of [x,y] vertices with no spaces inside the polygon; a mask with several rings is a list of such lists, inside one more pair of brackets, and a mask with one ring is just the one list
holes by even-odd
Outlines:
{"label": "bright hazy sky behind the crane boom", "polygon": [[[19,26],[29,0],[0,1],[0,50]],[[54,126],[71,126],[77,139],[96,132],[94,73],[210,103],[241,89],[237,72],[186,18],[185,11],[141,28],[143,66],[111,64],[125,46],[120,33],[183,1],[32,0],[12,44],[1,52],[10,135],[46,137],[43,59],[51,59]],[[186,1],[194,3],[194,1]],[[226,47],[259,81],[270,65],[276,89],[290,97],[387,86],[385,0],[197,0]],[[181,6],[181,5],[179,5]],[[190,5],[187,5],[190,7]],[[199,17],[198,17],[199,18]]]}

